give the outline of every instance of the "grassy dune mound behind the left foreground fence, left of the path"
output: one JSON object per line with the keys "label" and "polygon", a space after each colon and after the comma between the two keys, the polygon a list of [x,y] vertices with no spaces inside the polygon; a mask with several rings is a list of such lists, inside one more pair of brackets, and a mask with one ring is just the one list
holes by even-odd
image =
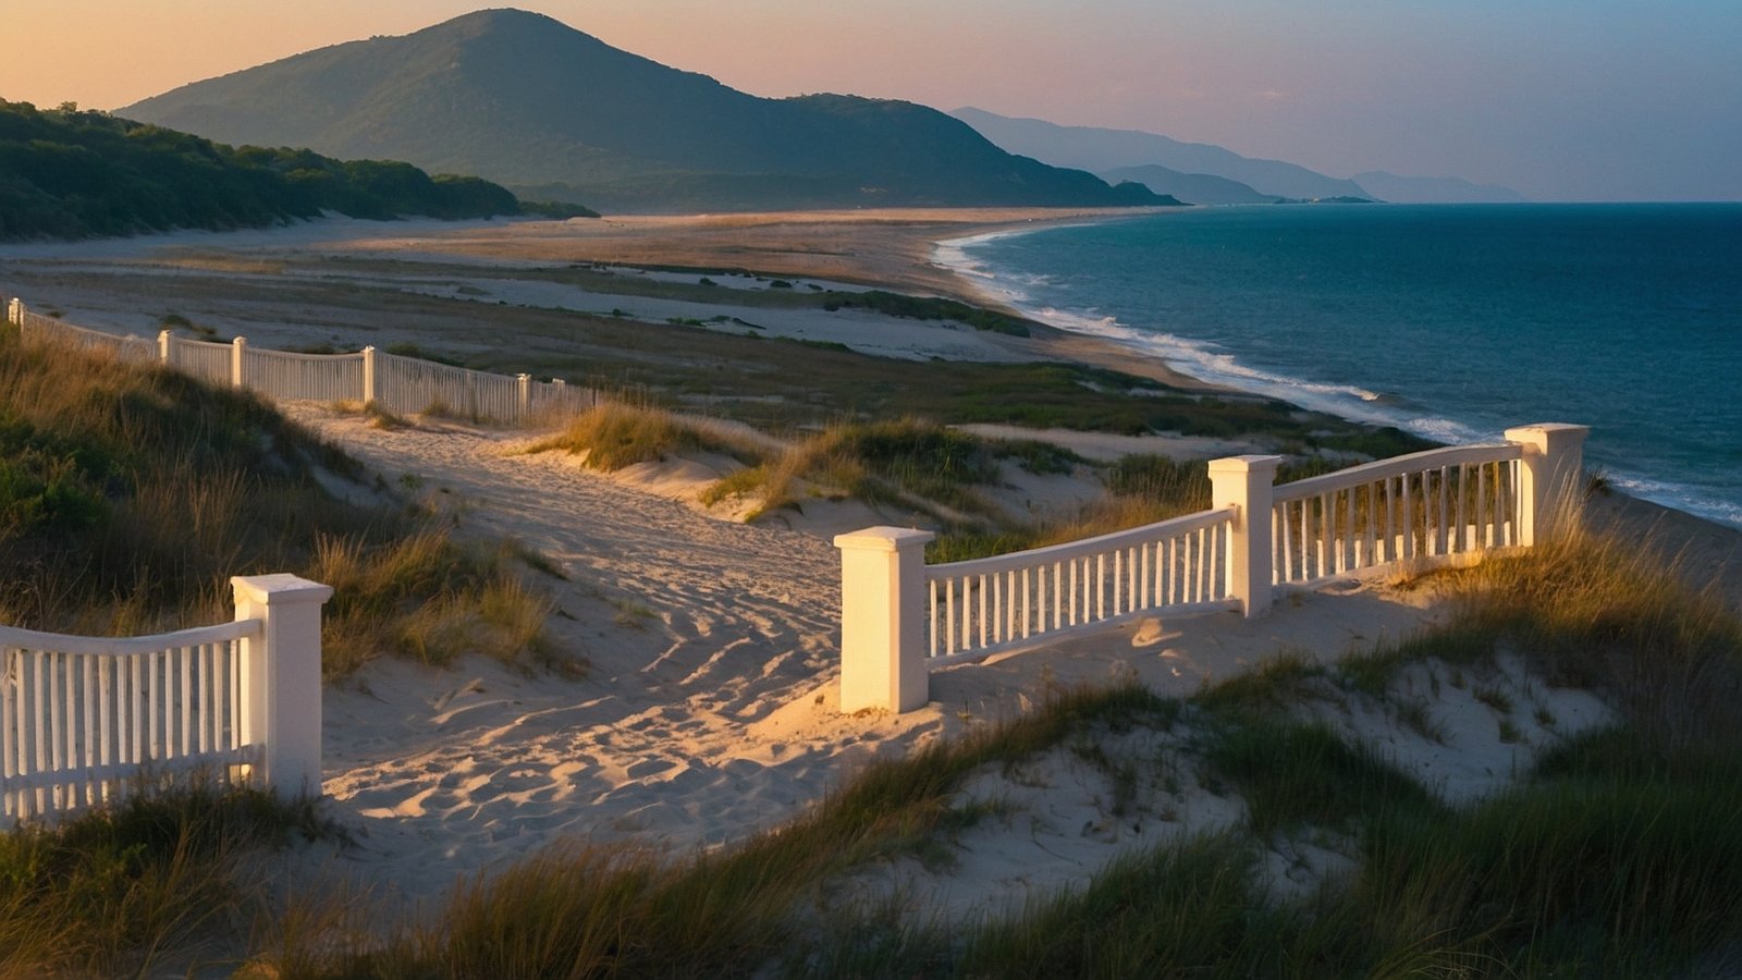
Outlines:
{"label": "grassy dune mound behind the left foreground fence, left of the path", "polygon": [[0,621],[150,633],[230,616],[230,575],[336,588],[324,670],[381,654],[549,659],[547,600],[507,549],[345,504],[340,450],[249,392],[0,331]]}

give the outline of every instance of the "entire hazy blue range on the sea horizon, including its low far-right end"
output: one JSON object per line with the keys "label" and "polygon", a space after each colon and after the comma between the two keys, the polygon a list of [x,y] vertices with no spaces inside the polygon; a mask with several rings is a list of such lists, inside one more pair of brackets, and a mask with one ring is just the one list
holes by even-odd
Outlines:
{"label": "entire hazy blue range on the sea horizon, including its low far-right end", "polygon": [[[1348,180],[1326,176],[1284,160],[1242,157],[1211,143],[1181,143],[1138,129],[1101,129],[1059,126],[1042,119],[1012,119],[963,106],[949,115],[967,122],[993,143],[1061,167],[1082,167],[1108,180],[1141,180],[1158,194],[1174,194],[1193,204],[1242,204],[1239,188],[1205,181],[1188,183],[1185,176],[1216,176],[1246,185],[1259,197],[1331,199],[1366,197],[1395,202],[1479,202],[1524,201],[1516,190],[1475,185],[1460,178],[1413,178],[1367,171]],[[1158,167],[1148,178],[1134,176],[1136,167]],[[1190,188],[1190,190],[1188,190]]]}

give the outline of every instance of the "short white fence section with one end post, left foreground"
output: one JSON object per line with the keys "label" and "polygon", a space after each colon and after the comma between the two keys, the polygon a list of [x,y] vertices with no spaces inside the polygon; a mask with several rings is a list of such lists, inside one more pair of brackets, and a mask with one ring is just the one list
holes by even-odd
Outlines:
{"label": "short white fence section with one end post, left foreground", "polygon": [[0,626],[0,814],[118,799],[188,771],[321,790],[321,605],[294,575],[232,579],[235,621],[157,636]]}

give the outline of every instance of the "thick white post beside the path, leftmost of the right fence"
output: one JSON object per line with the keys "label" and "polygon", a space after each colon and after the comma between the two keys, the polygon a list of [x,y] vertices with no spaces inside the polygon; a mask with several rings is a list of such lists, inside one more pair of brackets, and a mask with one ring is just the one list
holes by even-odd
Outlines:
{"label": "thick white post beside the path, leftmost of the right fence", "polygon": [[834,537],[841,549],[841,711],[911,711],[930,699],[925,666],[928,530],[869,527]]}

